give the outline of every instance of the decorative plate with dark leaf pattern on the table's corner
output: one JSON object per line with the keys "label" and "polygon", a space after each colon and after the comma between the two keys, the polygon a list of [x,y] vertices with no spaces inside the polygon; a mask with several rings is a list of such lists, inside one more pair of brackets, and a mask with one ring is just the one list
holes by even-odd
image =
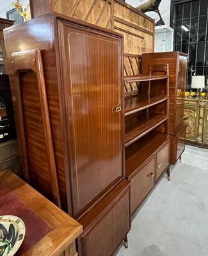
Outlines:
{"label": "decorative plate with dark leaf pattern on the table's corner", "polygon": [[0,216],[0,256],[12,256],[19,249],[26,233],[24,222],[17,216]]}

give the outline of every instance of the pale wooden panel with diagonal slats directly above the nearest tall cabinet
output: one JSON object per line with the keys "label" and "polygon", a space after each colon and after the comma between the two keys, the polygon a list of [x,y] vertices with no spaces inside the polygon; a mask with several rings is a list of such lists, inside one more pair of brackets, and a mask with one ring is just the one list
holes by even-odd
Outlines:
{"label": "pale wooden panel with diagonal slats directly above the nearest tall cabinet", "polygon": [[111,29],[111,1],[108,0],[57,0],[55,12]]}

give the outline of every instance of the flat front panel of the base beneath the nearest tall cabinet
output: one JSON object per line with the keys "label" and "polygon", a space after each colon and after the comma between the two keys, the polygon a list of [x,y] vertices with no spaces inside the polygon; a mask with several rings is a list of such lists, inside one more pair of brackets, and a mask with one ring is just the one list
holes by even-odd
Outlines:
{"label": "flat front panel of the base beneath the nearest tall cabinet", "polygon": [[[113,255],[129,232],[131,228],[129,187],[115,198],[109,198],[108,204],[110,205],[108,211],[104,210],[96,220],[90,221],[88,227],[84,228],[84,234],[78,238],[80,256]],[[88,218],[90,219],[91,216]],[[95,224],[94,221],[97,223]]]}

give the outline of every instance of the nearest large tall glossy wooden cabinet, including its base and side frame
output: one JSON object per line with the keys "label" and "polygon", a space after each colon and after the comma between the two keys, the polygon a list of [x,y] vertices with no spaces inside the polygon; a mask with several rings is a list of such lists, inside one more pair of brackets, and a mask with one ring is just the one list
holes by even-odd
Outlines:
{"label": "nearest large tall glossy wooden cabinet, including its base and side frame", "polygon": [[101,247],[112,255],[131,217],[123,38],[57,13],[6,29],[4,38],[24,177],[84,226],[81,255]]}

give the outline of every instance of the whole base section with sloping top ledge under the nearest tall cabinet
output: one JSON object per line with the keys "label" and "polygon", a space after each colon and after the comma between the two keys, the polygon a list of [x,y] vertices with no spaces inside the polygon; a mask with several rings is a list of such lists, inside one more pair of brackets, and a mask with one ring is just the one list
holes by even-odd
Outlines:
{"label": "whole base section with sloping top ledge under the nearest tall cabinet", "polygon": [[83,218],[84,232],[78,238],[79,256],[113,255],[131,228],[129,209],[129,180],[116,186]]}

